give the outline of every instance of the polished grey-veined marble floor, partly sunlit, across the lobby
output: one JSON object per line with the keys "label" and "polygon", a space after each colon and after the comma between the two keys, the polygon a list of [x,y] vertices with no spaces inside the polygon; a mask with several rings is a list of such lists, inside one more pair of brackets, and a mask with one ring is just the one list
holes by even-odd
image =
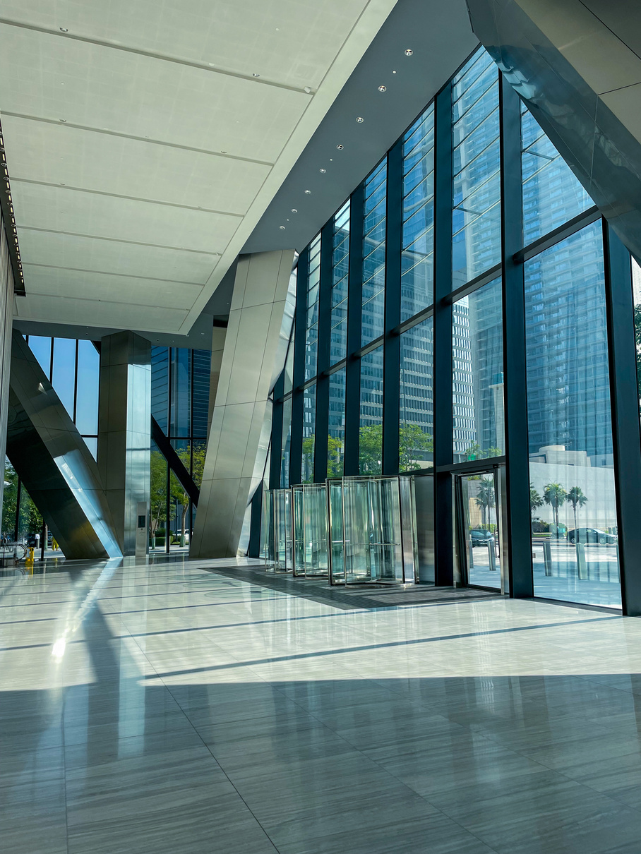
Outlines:
{"label": "polished grey-veined marble floor, partly sunlit, across the lobby", "polygon": [[640,723],[641,620],[604,611],[0,578],[3,854],[638,854]]}

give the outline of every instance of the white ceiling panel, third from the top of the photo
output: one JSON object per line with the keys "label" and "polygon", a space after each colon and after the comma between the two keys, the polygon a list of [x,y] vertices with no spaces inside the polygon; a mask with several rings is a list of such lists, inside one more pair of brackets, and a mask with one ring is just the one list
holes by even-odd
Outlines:
{"label": "white ceiling panel, third from the top of the photo", "polygon": [[12,178],[189,208],[246,213],[269,173],[205,155],[62,124],[3,116]]}

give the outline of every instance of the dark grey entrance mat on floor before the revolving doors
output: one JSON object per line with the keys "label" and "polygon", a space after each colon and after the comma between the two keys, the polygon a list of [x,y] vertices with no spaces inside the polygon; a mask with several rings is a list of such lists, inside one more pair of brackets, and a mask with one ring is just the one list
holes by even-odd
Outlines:
{"label": "dark grey entrance mat on floor before the revolving doors", "polygon": [[227,578],[259,585],[280,593],[300,596],[323,605],[333,605],[344,611],[362,608],[393,608],[403,605],[442,605],[446,602],[466,602],[500,599],[501,594],[473,588],[435,588],[428,584],[412,587],[390,585],[359,585],[350,588],[330,587],[326,578],[294,578],[288,573],[265,572],[238,566],[203,566],[203,570]]}

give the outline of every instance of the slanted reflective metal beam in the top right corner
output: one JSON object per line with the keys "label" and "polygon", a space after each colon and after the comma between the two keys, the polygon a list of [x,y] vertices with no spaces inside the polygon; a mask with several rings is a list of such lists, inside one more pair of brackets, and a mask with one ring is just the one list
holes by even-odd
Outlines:
{"label": "slanted reflective metal beam in the top right corner", "polygon": [[641,57],[625,32],[578,0],[468,0],[468,9],[480,42],[641,257]]}

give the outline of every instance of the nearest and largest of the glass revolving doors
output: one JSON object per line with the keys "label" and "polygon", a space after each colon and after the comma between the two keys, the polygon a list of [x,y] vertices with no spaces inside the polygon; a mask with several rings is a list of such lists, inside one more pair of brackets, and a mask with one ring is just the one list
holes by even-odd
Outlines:
{"label": "nearest and largest of the glass revolving doors", "polygon": [[327,481],[331,584],[415,584],[413,477]]}

